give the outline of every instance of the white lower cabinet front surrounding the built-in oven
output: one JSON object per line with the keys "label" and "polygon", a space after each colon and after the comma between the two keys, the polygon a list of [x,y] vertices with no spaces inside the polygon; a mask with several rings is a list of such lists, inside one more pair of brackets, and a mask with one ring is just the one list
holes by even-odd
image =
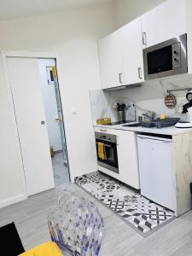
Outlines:
{"label": "white lower cabinet front surrounding the built-in oven", "polygon": [[103,166],[98,166],[98,170],[119,179],[119,181],[131,186],[132,188],[140,189],[136,133],[134,131],[121,131],[97,127],[95,127],[95,131],[102,132],[102,134],[106,135],[113,134],[116,135],[117,138],[116,147],[119,173],[113,172],[108,168],[103,168]]}

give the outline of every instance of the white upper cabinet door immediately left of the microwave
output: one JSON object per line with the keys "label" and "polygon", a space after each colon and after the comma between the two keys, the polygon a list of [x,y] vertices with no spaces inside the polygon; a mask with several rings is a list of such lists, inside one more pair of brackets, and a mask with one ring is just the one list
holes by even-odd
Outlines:
{"label": "white upper cabinet door immediately left of the microwave", "polygon": [[125,84],[143,82],[143,47],[141,18],[121,28]]}

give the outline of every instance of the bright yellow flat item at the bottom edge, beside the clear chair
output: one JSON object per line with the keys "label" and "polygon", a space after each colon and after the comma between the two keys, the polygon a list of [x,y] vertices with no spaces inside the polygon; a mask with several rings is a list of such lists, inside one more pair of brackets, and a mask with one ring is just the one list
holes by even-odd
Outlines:
{"label": "bright yellow flat item at the bottom edge, beside the clear chair", "polygon": [[63,256],[60,248],[53,241],[45,242],[19,256]]}

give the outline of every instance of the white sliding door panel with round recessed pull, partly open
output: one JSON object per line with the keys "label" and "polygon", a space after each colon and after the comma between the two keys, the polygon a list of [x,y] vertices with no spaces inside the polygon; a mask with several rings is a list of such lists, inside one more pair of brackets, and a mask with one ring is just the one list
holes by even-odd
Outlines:
{"label": "white sliding door panel with round recessed pull, partly open", "polygon": [[38,59],[7,58],[28,195],[55,187]]}

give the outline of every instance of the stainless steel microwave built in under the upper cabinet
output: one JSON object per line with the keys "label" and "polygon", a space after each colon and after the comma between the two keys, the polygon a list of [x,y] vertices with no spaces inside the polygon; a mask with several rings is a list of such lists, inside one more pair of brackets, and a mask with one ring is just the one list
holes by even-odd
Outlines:
{"label": "stainless steel microwave built in under the upper cabinet", "polygon": [[143,49],[145,79],[188,72],[187,34]]}

